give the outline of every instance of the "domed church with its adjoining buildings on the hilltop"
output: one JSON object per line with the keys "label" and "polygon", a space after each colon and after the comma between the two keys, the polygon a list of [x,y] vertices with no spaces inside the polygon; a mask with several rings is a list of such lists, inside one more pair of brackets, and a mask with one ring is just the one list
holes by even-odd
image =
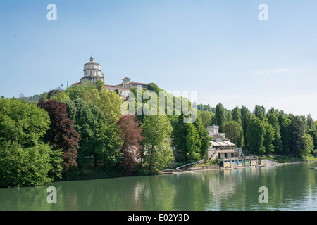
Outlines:
{"label": "domed church with its adjoining buildings on the hilltop", "polygon": [[[101,66],[99,63],[94,62],[94,57],[90,57],[90,61],[84,64],[84,77],[80,78],[80,82],[72,84],[73,86],[77,86],[79,84],[84,84],[85,82],[97,82],[97,80],[102,80],[104,82],[104,73],[101,72]],[[118,91],[118,94],[121,94],[124,91],[128,91],[133,87],[137,89],[147,90],[147,84],[139,83],[139,82],[131,82],[131,78],[125,77],[122,80],[121,84],[116,85],[108,85],[105,84],[104,87],[108,91]]]}

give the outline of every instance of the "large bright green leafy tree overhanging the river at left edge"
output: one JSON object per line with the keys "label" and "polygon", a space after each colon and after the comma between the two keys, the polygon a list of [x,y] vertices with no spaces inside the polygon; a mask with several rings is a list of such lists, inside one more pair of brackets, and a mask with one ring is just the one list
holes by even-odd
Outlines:
{"label": "large bright green leafy tree overhanging the river at left edge", "polygon": [[61,151],[41,141],[49,123],[37,105],[0,98],[0,186],[42,185],[61,176]]}

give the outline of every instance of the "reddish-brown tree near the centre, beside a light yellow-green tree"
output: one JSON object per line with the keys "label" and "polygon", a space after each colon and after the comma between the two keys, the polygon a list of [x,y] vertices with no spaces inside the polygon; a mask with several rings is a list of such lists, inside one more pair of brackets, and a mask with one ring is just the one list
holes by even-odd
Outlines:
{"label": "reddish-brown tree near the centre, beside a light yellow-green tree", "polygon": [[120,152],[123,153],[121,165],[126,171],[132,172],[142,149],[140,144],[143,139],[142,130],[139,127],[139,121],[135,121],[135,115],[123,115],[117,124],[120,129],[120,137],[123,140],[123,146],[120,149]]}

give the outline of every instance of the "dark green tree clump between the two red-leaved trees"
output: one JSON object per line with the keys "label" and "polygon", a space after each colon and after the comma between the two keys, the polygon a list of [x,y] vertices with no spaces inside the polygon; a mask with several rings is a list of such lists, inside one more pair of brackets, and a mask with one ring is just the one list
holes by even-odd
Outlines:
{"label": "dark green tree clump between the two red-leaved trees", "polygon": [[[121,143],[118,126],[108,123],[104,113],[96,105],[87,105],[82,99],[76,99],[75,129],[80,134],[78,158],[85,162],[85,156],[94,157],[94,165],[97,160],[102,160],[104,166],[116,164],[121,160],[118,151]],[[68,105],[72,105],[68,103]]]}

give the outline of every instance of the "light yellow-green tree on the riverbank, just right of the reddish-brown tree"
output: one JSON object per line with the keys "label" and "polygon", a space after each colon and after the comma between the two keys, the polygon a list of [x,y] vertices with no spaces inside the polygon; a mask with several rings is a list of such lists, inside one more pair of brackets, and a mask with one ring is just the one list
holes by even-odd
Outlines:
{"label": "light yellow-green tree on the riverbank, just right of the reddish-brown tree", "polygon": [[152,171],[168,167],[174,160],[173,150],[170,148],[169,138],[172,126],[166,116],[145,116],[142,124],[142,146],[144,148],[144,164]]}

